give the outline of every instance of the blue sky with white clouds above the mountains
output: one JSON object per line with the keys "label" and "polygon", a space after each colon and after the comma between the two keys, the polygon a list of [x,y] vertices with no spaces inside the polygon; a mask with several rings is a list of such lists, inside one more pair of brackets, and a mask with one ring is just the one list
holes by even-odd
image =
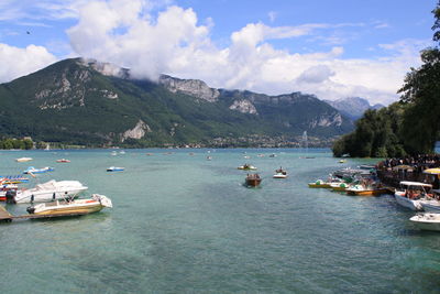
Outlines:
{"label": "blue sky with white clouds above the mountains", "polygon": [[[398,99],[436,0],[3,0],[0,83],[66,57],[321,99]],[[29,32],[29,33],[28,33]]]}

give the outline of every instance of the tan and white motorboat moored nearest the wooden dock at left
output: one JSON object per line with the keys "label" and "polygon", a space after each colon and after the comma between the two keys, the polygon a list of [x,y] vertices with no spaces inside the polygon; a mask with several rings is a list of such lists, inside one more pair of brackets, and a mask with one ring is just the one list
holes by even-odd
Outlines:
{"label": "tan and white motorboat moored nearest the wooden dock at left", "polygon": [[43,203],[28,207],[32,215],[85,215],[100,211],[105,207],[113,207],[111,200],[99,194],[92,194],[88,199],[64,199],[53,203]]}

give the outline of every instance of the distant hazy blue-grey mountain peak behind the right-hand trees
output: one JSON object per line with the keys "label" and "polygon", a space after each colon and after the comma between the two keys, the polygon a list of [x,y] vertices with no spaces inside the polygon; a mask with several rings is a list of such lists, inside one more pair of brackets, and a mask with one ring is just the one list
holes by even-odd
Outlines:
{"label": "distant hazy blue-grey mountain peak behind the right-hand trees", "polygon": [[348,97],[334,101],[331,100],[323,100],[323,101],[334,107],[336,109],[341,111],[342,115],[353,120],[360,119],[367,109],[381,109],[385,107],[380,104],[371,106],[369,100],[361,97]]}

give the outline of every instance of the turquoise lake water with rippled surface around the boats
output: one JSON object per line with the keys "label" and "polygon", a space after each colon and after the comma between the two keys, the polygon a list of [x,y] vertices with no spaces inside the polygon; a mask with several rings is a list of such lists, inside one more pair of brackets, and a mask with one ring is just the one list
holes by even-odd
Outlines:
{"label": "turquoise lake water with rippled surface around the boats", "polygon": [[[0,152],[0,175],[54,166],[30,186],[78,179],[86,195],[113,202],[113,209],[84,217],[1,224],[0,292],[440,291],[440,233],[417,230],[408,221],[414,214],[389,195],[307,187],[336,168],[374,160],[340,164],[328,150],[309,150],[315,159],[307,160],[298,150],[207,151]],[[34,160],[14,162],[22,156]],[[55,163],[62,157],[72,162]],[[246,172],[237,166],[244,163],[258,167],[260,188],[243,186]],[[125,171],[107,173],[112,165]],[[280,165],[289,177],[272,178]],[[26,206],[8,209],[20,215]]]}

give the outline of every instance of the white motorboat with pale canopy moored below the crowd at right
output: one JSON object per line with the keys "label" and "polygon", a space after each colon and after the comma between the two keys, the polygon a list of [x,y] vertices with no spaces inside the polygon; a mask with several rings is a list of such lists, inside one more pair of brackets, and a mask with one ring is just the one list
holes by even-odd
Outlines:
{"label": "white motorboat with pale canopy moored below the crowd at right", "polygon": [[425,199],[427,190],[432,189],[432,185],[420,182],[400,182],[400,188],[396,189],[394,197],[396,202],[411,210],[424,210],[421,202]]}

